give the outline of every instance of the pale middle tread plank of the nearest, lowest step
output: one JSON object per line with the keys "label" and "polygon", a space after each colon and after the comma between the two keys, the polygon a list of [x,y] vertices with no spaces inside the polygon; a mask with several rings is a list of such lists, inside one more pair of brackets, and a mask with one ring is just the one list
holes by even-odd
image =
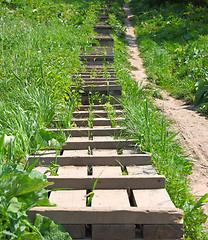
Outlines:
{"label": "pale middle tread plank of the nearest, lowest step", "polygon": [[130,207],[127,190],[95,190],[92,207],[122,209]]}

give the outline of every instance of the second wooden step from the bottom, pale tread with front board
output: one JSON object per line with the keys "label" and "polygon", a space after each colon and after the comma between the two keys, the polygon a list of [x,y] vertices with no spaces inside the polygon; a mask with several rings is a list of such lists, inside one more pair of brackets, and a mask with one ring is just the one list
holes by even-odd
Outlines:
{"label": "second wooden step from the bottom, pale tread with front board", "polygon": [[[47,179],[54,185],[49,189],[72,188],[92,189],[96,179],[96,189],[160,189],[165,188],[165,177],[157,175],[151,166],[127,166],[128,175],[122,175],[118,166],[93,166],[92,175],[88,174],[88,167],[62,166],[58,169],[58,176]],[[37,167],[35,170],[44,173],[48,167]]]}

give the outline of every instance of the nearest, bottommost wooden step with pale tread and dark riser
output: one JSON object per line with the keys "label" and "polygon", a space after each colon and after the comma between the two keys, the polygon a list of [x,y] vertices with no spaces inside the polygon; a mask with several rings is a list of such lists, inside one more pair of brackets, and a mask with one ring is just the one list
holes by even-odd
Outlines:
{"label": "nearest, bottommost wooden step with pale tread and dark riser", "polygon": [[[125,189],[97,189],[94,191],[91,206],[86,207],[86,192],[86,190],[52,192],[50,201],[57,204],[57,207],[35,207],[28,211],[28,215],[33,220],[35,214],[40,213],[65,227],[76,225],[81,228],[86,224],[92,224],[91,239],[95,240],[99,239],[98,237],[105,239],[98,232],[107,231],[106,229],[109,228],[110,232],[104,231],[103,234],[108,234],[108,239],[115,239],[114,234],[121,231],[122,227],[128,232],[124,235],[124,239],[136,239],[135,225],[142,226],[141,232],[145,239],[181,239],[183,237],[183,213],[174,207],[165,189],[133,190],[132,194],[133,198],[136,198],[137,206],[132,206],[128,191]],[[137,192],[136,197],[135,192]],[[140,197],[138,198],[140,195],[141,201]],[[146,201],[143,201],[145,195]],[[155,197],[156,201],[154,201]],[[152,202],[154,206],[151,205]],[[156,230],[155,235],[154,230]],[[87,236],[83,233],[82,238],[86,239]]]}

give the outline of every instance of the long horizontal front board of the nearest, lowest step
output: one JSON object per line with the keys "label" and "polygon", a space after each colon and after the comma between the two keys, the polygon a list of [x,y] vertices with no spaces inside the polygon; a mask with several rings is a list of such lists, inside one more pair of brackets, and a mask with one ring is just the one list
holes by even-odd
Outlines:
{"label": "long horizontal front board of the nearest, lowest step", "polygon": [[175,210],[151,210],[131,207],[122,209],[85,207],[66,209],[58,207],[34,207],[28,212],[30,219],[35,214],[48,216],[60,224],[182,224],[183,213]]}

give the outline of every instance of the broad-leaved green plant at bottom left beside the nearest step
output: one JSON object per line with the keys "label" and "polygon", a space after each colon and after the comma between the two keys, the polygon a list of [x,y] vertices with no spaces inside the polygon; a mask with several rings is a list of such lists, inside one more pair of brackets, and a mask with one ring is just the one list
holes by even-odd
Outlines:
{"label": "broad-leaved green plant at bottom left beside the nearest step", "polygon": [[53,206],[44,189],[51,184],[45,175],[34,170],[27,172],[20,165],[3,163],[0,166],[1,239],[43,239],[26,211],[34,206]]}

